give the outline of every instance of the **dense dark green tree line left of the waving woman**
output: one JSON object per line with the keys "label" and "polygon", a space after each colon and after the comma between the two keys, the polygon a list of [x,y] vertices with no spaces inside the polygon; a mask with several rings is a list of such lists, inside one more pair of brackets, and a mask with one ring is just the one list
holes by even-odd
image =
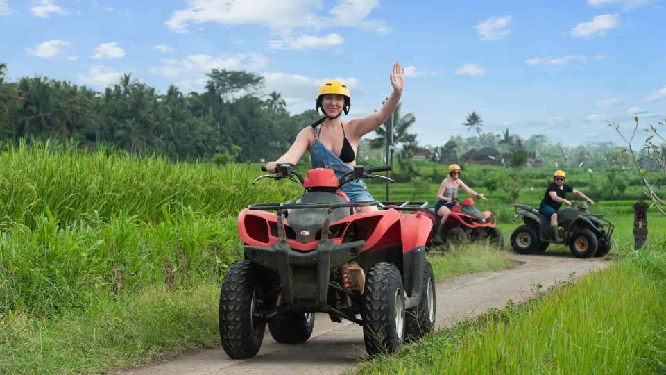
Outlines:
{"label": "dense dark green tree line left of the waving woman", "polygon": [[282,155],[320,116],[291,115],[280,93],[259,94],[264,78],[248,72],[213,69],[203,92],[171,85],[159,94],[130,74],[97,92],[42,76],[8,82],[6,71],[0,64],[0,140],[55,138],[132,154],[257,161]]}

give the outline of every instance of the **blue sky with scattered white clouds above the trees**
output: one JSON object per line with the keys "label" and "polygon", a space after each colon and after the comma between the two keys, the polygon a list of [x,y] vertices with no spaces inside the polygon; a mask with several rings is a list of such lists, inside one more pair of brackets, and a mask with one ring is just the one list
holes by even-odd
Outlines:
{"label": "blue sky with scattered white clouds above the trees", "polygon": [[245,69],[292,113],[343,78],[352,118],[390,94],[400,61],[421,144],[471,135],[472,110],[486,132],[619,144],[608,122],[666,119],[665,15],[665,0],[0,0],[0,62],[12,79],[102,90],[131,72],[160,92]]}

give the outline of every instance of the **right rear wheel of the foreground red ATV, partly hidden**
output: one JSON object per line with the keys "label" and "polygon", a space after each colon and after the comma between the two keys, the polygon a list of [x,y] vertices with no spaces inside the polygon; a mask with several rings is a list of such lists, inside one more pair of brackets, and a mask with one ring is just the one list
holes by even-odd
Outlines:
{"label": "right rear wheel of the foreground red ATV, partly hidden", "polygon": [[436,294],[435,276],[430,262],[425,261],[423,267],[423,283],[421,301],[417,306],[407,310],[405,315],[405,339],[413,341],[432,333],[435,328]]}

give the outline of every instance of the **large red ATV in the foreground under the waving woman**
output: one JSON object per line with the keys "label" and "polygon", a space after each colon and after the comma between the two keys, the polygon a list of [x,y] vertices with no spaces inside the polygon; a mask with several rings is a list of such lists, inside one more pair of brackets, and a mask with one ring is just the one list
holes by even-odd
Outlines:
{"label": "large red ATV in the foreground under the waving woman", "polygon": [[[386,178],[372,173],[389,169],[357,165],[338,179],[331,169],[316,168],[304,179],[280,163],[278,173],[253,181],[298,179],[305,192],[296,202],[250,205],[239,214],[245,259],[226,272],[219,304],[221,343],[230,358],[255,356],[266,324],[278,342],[305,342],[316,312],[363,326],[370,356],[432,332],[428,203],[350,202],[339,190],[358,178]],[[375,205],[384,209],[355,213]]]}

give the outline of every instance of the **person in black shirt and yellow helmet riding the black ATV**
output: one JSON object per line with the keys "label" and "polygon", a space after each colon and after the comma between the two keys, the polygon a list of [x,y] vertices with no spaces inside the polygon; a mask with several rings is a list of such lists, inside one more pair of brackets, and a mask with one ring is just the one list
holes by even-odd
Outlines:
{"label": "person in black shirt and yellow helmet riding the black ATV", "polygon": [[541,206],[539,206],[539,213],[544,217],[550,217],[551,231],[543,233],[544,237],[553,240],[554,242],[561,242],[562,239],[557,232],[557,211],[560,209],[560,206],[562,206],[562,203],[571,206],[571,201],[564,198],[567,192],[585,200],[588,204],[594,204],[595,202],[583,194],[583,192],[574,189],[572,185],[564,183],[567,174],[565,174],[563,170],[555,171],[553,178],[554,181],[548,185],[545,194],[543,194]]}

